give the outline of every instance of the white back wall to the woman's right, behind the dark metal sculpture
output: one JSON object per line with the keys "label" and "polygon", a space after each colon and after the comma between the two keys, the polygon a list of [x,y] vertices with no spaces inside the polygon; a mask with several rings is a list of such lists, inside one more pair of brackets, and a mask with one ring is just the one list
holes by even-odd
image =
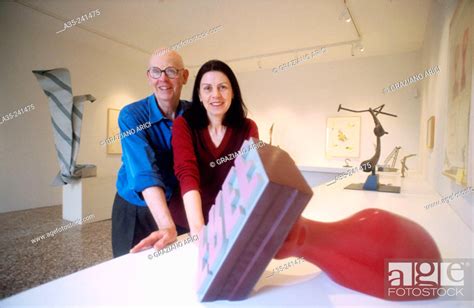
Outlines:
{"label": "white back wall to the woman's right, behind the dark metal sculpture", "polygon": [[[326,53],[330,52],[328,49]],[[379,115],[389,132],[382,137],[381,162],[395,146],[402,147],[399,158],[418,152],[420,105],[416,88],[420,84],[387,94],[383,88],[421,69],[419,54],[413,52],[301,65],[280,73],[241,73],[238,79],[261,139],[268,142],[269,128],[275,123],[273,144],[288,151],[298,165],[342,166],[344,159],[325,156],[327,117],[361,117],[360,157],[352,158],[353,162],[372,157],[376,139],[369,113],[337,112],[339,104],[356,110],[385,104],[384,111],[398,115]],[[418,169],[418,159],[409,160],[408,165],[410,170]]]}

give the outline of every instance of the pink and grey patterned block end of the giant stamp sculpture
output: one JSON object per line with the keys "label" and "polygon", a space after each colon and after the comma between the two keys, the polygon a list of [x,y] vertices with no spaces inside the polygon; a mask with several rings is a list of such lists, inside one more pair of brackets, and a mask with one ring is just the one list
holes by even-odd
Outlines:
{"label": "pink and grey patterned block end of the giant stamp sculpture", "polygon": [[201,301],[245,299],[311,196],[285,151],[254,146],[237,157],[199,235]]}

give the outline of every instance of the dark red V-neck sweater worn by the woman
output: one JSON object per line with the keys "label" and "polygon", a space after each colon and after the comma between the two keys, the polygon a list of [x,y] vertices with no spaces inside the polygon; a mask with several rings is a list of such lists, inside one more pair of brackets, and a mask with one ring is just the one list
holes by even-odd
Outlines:
{"label": "dark red V-neck sweater worn by the woman", "polygon": [[192,129],[184,117],[174,121],[171,144],[174,172],[181,191],[173,194],[169,204],[175,224],[189,228],[182,196],[190,190],[200,192],[202,213],[207,224],[209,210],[234,165],[233,161],[226,161],[224,157],[238,152],[242,143],[250,137],[258,139],[258,128],[255,122],[248,118],[240,128],[227,127],[218,147],[212,142],[207,127]]}

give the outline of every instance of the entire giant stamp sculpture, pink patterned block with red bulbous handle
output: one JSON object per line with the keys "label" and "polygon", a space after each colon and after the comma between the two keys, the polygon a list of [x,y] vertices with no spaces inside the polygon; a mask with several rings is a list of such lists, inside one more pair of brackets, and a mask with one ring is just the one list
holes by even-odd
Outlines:
{"label": "entire giant stamp sculpture, pink patterned block with red bulbous handle", "polygon": [[[257,142],[248,140],[242,148]],[[366,209],[334,223],[305,219],[301,213],[312,195],[282,149],[266,145],[238,156],[199,235],[199,300],[246,299],[273,257],[290,256],[303,257],[335,282],[379,298],[437,296],[440,288],[428,278],[439,276],[441,267],[435,263],[441,257],[425,229],[379,209]],[[406,270],[407,266],[412,268]],[[411,274],[405,274],[408,271]],[[404,287],[411,282],[434,292],[431,296],[390,293],[407,290]]]}

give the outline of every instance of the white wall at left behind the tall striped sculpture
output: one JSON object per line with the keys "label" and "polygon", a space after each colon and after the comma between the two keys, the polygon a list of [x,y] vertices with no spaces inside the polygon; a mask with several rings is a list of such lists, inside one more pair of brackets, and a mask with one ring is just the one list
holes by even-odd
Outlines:
{"label": "white wall at left behind the tall striped sculpture", "polygon": [[0,114],[29,104],[35,110],[0,126],[0,212],[61,204],[61,188],[50,183],[59,171],[48,101],[31,73],[66,67],[74,95],[85,103],[78,163],[97,165],[98,176],[115,175],[120,157],[107,155],[107,108],[145,97],[148,56],[79,28],[56,34],[63,24],[12,2],[0,3]]}

